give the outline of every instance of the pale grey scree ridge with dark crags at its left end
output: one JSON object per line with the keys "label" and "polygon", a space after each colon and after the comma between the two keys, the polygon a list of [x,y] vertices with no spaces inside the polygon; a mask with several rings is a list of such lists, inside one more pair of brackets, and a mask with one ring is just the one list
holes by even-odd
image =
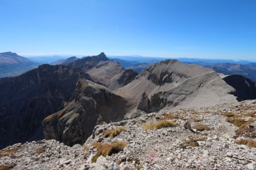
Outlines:
{"label": "pale grey scree ridge with dark crags at its left end", "polygon": [[[236,90],[224,82],[215,72],[189,78],[169,91],[158,92],[147,101],[143,94],[139,107],[146,112],[157,112],[165,107],[205,107],[236,102]],[[146,102],[147,101],[147,102]],[[144,104],[143,104],[144,103]]]}

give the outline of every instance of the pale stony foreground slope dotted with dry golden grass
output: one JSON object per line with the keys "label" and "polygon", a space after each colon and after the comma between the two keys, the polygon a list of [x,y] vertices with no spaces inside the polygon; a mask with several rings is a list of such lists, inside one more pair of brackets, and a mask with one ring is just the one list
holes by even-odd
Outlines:
{"label": "pale stony foreground slope dotted with dry golden grass", "polygon": [[55,140],[0,151],[0,169],[255,169],[256,100],[159,111],[98,125],[81,145]]}

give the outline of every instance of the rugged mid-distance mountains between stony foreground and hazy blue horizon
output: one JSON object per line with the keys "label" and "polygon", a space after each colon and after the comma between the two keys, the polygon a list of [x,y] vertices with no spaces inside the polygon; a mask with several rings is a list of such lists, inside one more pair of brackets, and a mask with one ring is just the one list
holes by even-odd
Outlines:
{"label": "rugged mid-distance mountains between stony foreground and hazy blue horizon", "polygon": [[241,75],[223,78],[211,68],[174,59],[150,65],[114,60],[104,53],[69,57],[0,78],[0,148],[43,138],[73,146],[84,143],[98,124],[142,112],[256,99],[255,83]]}

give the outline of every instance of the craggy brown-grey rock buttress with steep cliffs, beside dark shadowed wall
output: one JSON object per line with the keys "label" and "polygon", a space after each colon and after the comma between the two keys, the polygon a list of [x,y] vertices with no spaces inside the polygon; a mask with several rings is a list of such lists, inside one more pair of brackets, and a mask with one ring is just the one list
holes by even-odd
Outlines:
{"label": "craggy brown-grey rock buttress with steep cliffs, beside dark shadowed wall", "polygon": [[73,100],[61,111],[43,121],[46,139],[56,139],[65,145],[84,143],[99,122],[122,120],[125,100],[99,84],[80,79]]}

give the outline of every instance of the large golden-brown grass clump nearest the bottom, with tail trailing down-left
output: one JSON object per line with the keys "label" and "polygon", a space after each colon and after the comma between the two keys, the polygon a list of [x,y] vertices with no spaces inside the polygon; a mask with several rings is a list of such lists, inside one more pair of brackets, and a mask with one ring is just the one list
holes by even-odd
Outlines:
{"label": "large golden-brown grass clump nearest the bottom, with tail trailing down-left", "polygon": [[119,151],[122,151],[123,148],[127,146],[127,144],[123,141],[116,141],[112,143],[94,142],[92,143],[92,146],[98,149],[96,154],[92,158],[92,163],[95,163],[98,157],[100,157],[101,155],[106,157],[108,155],[118,153]]}

